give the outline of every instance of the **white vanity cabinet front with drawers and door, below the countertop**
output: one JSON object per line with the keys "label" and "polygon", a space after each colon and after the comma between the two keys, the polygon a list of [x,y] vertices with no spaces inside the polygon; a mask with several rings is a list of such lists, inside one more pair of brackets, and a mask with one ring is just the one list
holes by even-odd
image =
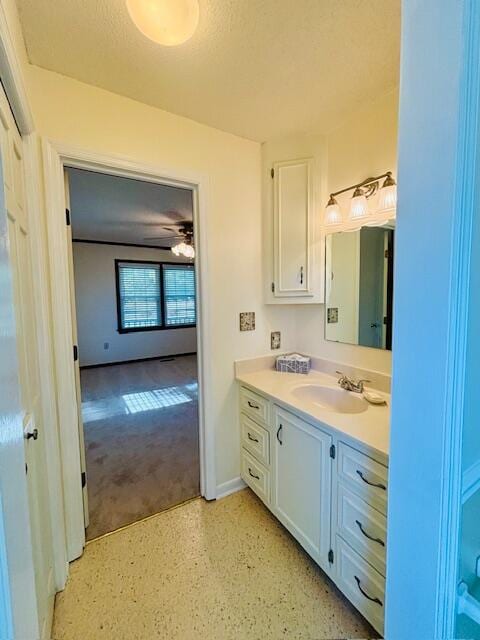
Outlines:
{"label": "white vanity cabinet front with drawers and door, below the countertop", "polygon": [[385,456],[244,385],[240,425],[243,480],[383,633]]}

